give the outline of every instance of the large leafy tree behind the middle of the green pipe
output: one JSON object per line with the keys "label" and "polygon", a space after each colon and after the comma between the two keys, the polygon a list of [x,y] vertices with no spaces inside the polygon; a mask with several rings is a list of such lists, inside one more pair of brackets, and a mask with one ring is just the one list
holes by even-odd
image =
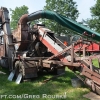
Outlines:
{"label": "large leafy tree behind the middle of the green pipe", "polygon": [[[79,15],[76,2],[73,0],[46,0],[44,10],[55,11],[58,14],[64,15],[72,20],[76,20]],[[58,34],[65,34],[69,32],[67,28],[59,25],[55,21],[45,20],[44,23],[49,29]]]}

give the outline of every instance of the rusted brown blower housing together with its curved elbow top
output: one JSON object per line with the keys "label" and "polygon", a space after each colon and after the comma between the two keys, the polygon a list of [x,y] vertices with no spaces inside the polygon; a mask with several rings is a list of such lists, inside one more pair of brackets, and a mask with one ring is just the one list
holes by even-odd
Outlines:
{"label": "rusted brown blower housing together with its curved elbow top", "polygon": [[14,42],[18,41],[27,41],[18,43],[18,50],[26,50],[30,44],[31,35],[28,33],[28,24],[27,24],[28,14],[23,15],[19,22],[17,29],[12,32]]}

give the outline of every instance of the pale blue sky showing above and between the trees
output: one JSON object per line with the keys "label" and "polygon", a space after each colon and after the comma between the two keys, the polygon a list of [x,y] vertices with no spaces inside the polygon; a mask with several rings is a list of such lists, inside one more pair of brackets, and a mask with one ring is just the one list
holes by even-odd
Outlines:
{"label": "pale blue sky showing above and between the trees", "polygon": [[[42,10],[46,5],[46,0],[0,0],[0,7],[6,7],[15,9],[15,7],[20,7],[23,5],[28,6],[29,13],[33,13],[38,10]],[[77,4],[77,9],[79,10],[79,18],[77,21],[82,19],[91,18],[90,7],[95,5],[96,0],[73,0]]]}

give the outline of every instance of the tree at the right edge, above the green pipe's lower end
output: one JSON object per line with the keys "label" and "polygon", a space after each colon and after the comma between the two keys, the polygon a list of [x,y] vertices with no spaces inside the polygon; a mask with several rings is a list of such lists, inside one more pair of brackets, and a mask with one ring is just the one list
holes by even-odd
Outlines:
{"label": "tree at the right edge, above the green pipe's lower end", "polygon": [[96,1],[96,4],[90,8],[91,11],[91,19],[86,20],[86,24],[89,27],[100,33],[100,0]]}

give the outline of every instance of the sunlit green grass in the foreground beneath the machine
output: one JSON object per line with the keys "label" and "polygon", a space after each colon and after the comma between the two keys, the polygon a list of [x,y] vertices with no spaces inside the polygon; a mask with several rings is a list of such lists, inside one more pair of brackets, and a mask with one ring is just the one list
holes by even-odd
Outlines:
{"label": "sunlit green grass in the foreground beneath the machine", "polygon": [[[1,69],[2,70],[2,69]],[[86,87],[73,88],[71,85],[71,78],[75,77],[74,74],[66,69],[66,73],[63,76],[55,78],[43,83],[47,78],[52,77],[52,75],[44,74],[40,75],[38,78],[33,79],[32,81],[23,82],[19,85],[15,84],[15,80],[12,82],[8,81],[8,73],[6,75],[0,74],[0,95],[39,95],[40,100],[88,100],[83,98],[83,95],[89,92],[89,89]],[[3,69],[3,71],[5,71]],[[7,71],[6,71],[7,72]],[[43,98],[43,94],[47,95],[63,95],[66,93],[66,99],[50,99]],[[26,98],[3,98],[0,100],[36,100],[38,98],[26,99]],[[38,99],[38,100],[39,100]]]}

